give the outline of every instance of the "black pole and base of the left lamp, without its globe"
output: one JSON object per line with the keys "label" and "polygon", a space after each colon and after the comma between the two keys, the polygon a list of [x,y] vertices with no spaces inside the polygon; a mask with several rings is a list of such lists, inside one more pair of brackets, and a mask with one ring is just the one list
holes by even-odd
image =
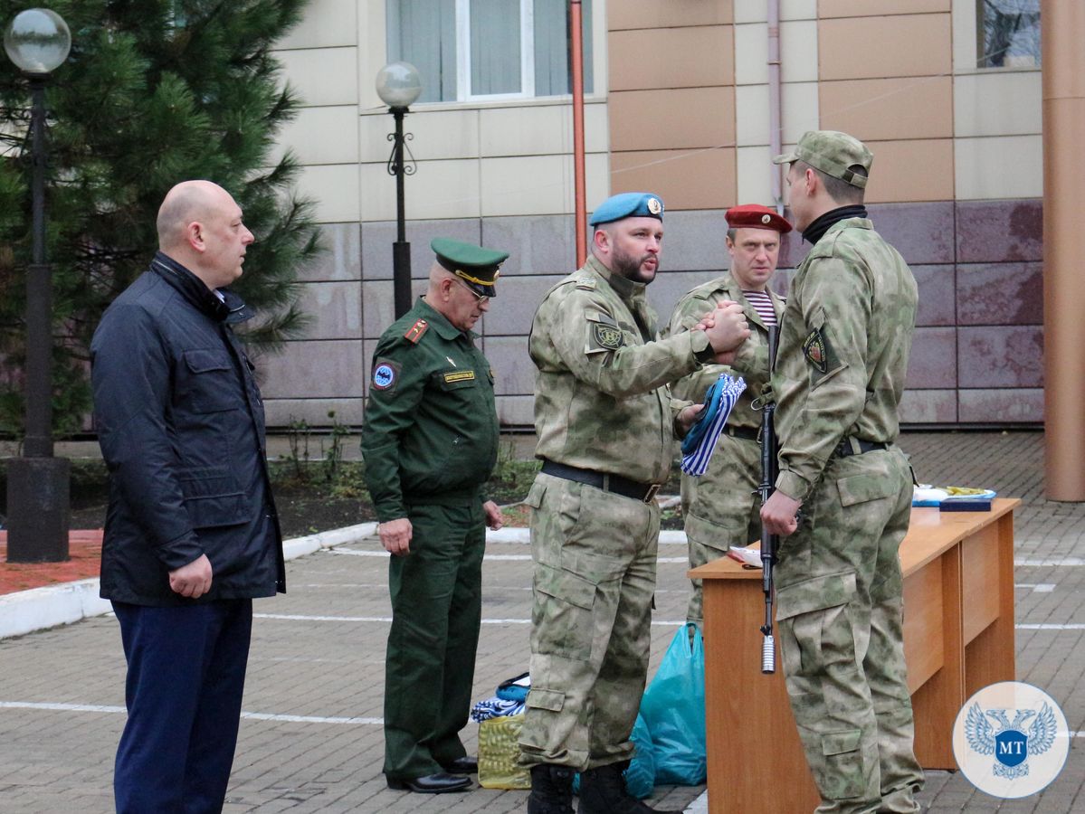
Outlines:
{"label": "black pole and base of the left lamp, without its globe", "polygon": [[53,457],[52,269],[46,262],[46,80],[28,75],[33,255],[26,275],[26,438],[8,463],[8,561],[68,558],[69,464]]}

